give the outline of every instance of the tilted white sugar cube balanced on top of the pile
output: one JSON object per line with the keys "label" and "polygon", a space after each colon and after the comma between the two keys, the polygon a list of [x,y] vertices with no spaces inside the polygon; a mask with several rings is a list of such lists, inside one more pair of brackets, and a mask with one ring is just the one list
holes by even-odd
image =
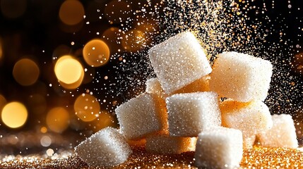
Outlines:
{"label": "tilted white sugar cube balanced on top of the pile", "polygon": [[171,94],[211,72],[198,39],[191,32],[170,37],[148,51],[165,93]]}

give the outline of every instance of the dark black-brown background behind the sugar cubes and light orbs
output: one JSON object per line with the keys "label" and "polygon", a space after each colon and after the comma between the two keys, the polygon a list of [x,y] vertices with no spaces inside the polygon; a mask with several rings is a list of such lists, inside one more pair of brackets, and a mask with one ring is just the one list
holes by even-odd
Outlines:
{"label": "dark black-brown background behind the sugar cubes and light orbs", "polygon": [[[112,113],[114,116],[115,106],[143,92],[145,80],[153,76],[152,68],[146,61],[146,51],[149,46],[166,39],[167,32],[170,32],[169,35],[174,35],[192,28],[189,26],[191,20],[187,20],[184,27],[172,29],[172,24],[178,23],[179,20],[186,20],[185,18],[172,17],[165,20],[167,12],[172,12],[170,15],[176,16],[180,12],[188,13],[193,8],[192,6],[182,6],[185,10],[178,11],[179,7],[174,4],[174,1],[161,3],[161,1],[125,0],[124,2],[131,6],[129,13],[119,13],[124,10],[125,6],[119,6],[121,4],[115,0],[81,1],[85,9],[85,18],[81,23],[72,26],[64,25],[59,18],[59,9],[63,2],[58,0],[0,0],[0,39],[3,49],[3,56],[0,58],[0,94],[8,102],[22,102],[29,111],[28,121],[23,127],[11,129],[1,124],[0,132],[4,136],[20,134],[20,132],[39,134],[40,128],[46,126],[45,118],[50,108],[72,107],[76,96],[87,90],[93,92],[93,95],[99,99],[102,110]],[[108,7],[110,3],[114,2],[118,5]],[[229,32],[234,32],[234,36],[225,39],[226,46],[220,47],[218,51],[243,51],[266,58],[273,63],[275,73],[266,104],[271,108],[272,113],[294,115],[298,122],[298,136],[300,137],[303,118],[301,115],[303,1],[237,0],[236,2],[237,5],[234,6],[237,6],[237,11],[240,13],[232,10],[230,6],[225,6],[225,13],[232,15],[230,22],[233,23],[233,26],[222,25]],[[218,1],[213,1],[213,4],[216,3]],[[176,6],[176,8],[166,8],[163,11],[166,6]],[[7,10],[13,14],[7,15],[5,13]],[[24,12],[18,14],[20,11]],[[115,11],[116,15],[112,15],[112,11]],[[203,13],[199,15],[203,15]],[[118,19],[119,16],[122,18],[121,20]],[[244,20],[239,22],[242,18]],[[146,27],[153,27],[153,30],[148,30],[148,33],[145,34],[144,45],[135,46],[133,47],[135,50],[132,50],[125,47],[125,44],[123,46],[121,39],[117,37],[125,38],[126,35],[129,35],[128,30],[136,27],[138,20],[148,23],[148,26],[144,27],[145,30]],[[256,28],[251,25],[256,25]],[[110,27],[117,27],[121,30],[119,35],[117,32],[112,34],[117,37],[104,37],[103,33]],[[247,35],[254,40],[247,40]],[[136,34],[132,36],[136,36]],[[82,58],[83,46],[94,38],[105,40],[112,54],[109,63],[99,68],[91,68]],[[129,44],[135,41],[136,39],[131,39]],[[83,63],[83,67],[88,69],[88,73],[85,73],[85,82],[78,89],[64,89],[54,75],[53,69],[56,61],[54,58],[59,58],[64,54],[76,56]],[[24,57],[32,58],[40,67],[40,77],[37,82],[26,87],[18,84],[12,75],[14,64]],[[105,76],[108,77],[107,80],[105,80]],[[33,94],[42,94],[44,101],[30,100],[30,96]],[[41,105],[43,108],[40,113],[31,113]],[[73,109],[69,110],[73,115]],[[114,120],[113,123],[116,124],[117,121]],[[95,132],[92,130],[92,125],[94,124],[76,120],[74,124],[76,127],[69,127],[64,134],[72,133],[72,137],[76,138],[75,144],[77,144],[78,140]],[[114,126],[117,127],[117,124]]]}

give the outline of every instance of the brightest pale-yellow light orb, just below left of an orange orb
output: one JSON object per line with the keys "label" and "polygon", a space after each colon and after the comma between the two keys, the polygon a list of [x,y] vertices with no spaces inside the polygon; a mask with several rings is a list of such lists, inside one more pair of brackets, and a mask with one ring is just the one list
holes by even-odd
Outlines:
{"label": "brightest pale-yellow light orb, just below left of an orange orb", "polygon": [[78,84],[79,86],[84,76],[84,70],[81,63],[68,55],[62,56],[58,59],[54,66],[54,73],[56,74],[59,82],[62,82],[63,86],[64,84],[66,84],[66,86],[69,86],[69,84],[71,84],[71,86]]}

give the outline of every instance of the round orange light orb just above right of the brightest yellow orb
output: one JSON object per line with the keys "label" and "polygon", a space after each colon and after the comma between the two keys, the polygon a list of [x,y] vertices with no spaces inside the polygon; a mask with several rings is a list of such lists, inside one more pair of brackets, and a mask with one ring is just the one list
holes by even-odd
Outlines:
{"label": "round orange light orb just above right of the brightest yellow orb", "polygon": [[98,67],[109,61],[109,47],[100,39],[93,39],[83,48],[83,58],[88,65]]}

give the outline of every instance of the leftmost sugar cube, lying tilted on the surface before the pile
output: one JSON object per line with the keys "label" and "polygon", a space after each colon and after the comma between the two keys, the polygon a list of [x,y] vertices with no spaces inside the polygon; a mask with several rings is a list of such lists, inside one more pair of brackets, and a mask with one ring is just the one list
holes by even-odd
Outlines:
{"label": "leftmost sugar cube, lying tilted on the surface before the pile", "polygon": [[107,127],[76,146],[76,153],[90,167],[112,167],[124,163],[131,147],[117,129]]}

